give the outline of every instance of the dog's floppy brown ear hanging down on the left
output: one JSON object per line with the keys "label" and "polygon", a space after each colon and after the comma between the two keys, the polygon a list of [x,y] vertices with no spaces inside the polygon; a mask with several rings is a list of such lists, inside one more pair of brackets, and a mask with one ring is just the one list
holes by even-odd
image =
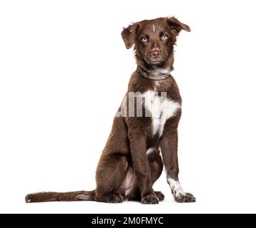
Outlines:
{"label": "dog's floppy brown ear hanging down on the left", "polygon": [[134,23],[127,28],[123,28],[121,35],[127,49],[132,48],[132,45],[135,43],[138,29],[139,23]]}

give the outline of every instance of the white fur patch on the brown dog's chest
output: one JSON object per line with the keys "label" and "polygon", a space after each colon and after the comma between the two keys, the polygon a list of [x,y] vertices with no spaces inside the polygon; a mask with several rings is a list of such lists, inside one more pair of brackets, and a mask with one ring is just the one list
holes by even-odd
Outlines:
{"label": "white fur patch on the brown dog's chest", "polygon": [[152,135],[162,135],[164,125],[169,118],[172,118],[181,108],[181,105],[174,100],[167,98],[167,93],[157,93],[153,90],[148,90],[142,93],[144,98],[144,107],[146,116],[152,118]]}

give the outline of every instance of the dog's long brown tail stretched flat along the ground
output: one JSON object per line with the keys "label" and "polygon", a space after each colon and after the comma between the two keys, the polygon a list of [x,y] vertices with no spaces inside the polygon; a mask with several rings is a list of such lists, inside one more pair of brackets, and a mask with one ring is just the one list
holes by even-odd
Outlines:
{"label": "dog's long brown tail stretched flat along the ground", "polygon": [[94,201],[95,191],[38,192],[26,195],[26,202]]}

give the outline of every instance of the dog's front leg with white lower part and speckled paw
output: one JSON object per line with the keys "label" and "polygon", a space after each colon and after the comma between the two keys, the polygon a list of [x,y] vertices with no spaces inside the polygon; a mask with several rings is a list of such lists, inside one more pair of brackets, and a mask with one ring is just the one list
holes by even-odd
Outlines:
{"label": "dog's front leg with white lower part and speckled paw", "polygon": [[172,195],[176,202],[195,202],[195,197],[190,193],[184,192],[179,184],[177,145],[177,128],[171,127],[164,133],[160,142],[164,167],[167,172],[167,182],[171,187]]}

